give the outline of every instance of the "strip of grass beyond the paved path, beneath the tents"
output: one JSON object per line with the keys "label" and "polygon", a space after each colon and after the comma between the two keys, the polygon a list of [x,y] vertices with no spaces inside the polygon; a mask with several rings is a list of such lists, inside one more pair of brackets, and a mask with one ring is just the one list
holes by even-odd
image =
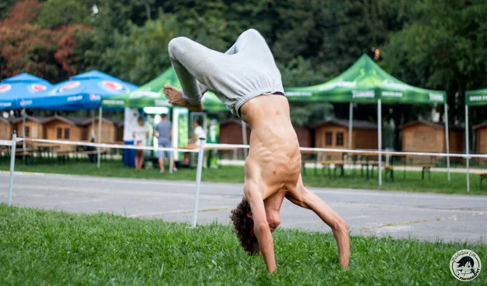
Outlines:
{"label": "strip of grass beyond the paved path, beneath the tents", "polygon": [[[6,160],[1,161],[0,170],[7,171],[8,169],[9,162]],[[51,162],[50,164],[40,162],[34,165],[24,165],[22,161],[17,160],[15,171],[189,181],[195,181],[196,178],[195,169],[179,169],[174,174],[169,174],[168,171],[165,174],[160,174],[158,169],[135,171],[134,169],[123,167],[122,162],[118,160],[102,162],[101,169],[97,169],[96,164],[87,162],[86,160],[70,160],[65,165],[60,165],[57,162]],[[470,174],[470,193],[466,192],[466,176],[463,173],[452,173],[452,180],[450,181],[447,180],[446,172],[431,172],[431,180],[428,179],[427,174],[425,174],[425,179],[421,180],[420,171],[408,171],[404,179],[403,171],[397,169],[395,176],[396,178],[392,182],[383,174],[383,185],[379,187],[377,183],[377,171],[374,173],[374,178],[366,180],[365,177],[360,176],[360,171],[357,171],[356,176],[349,176],[348,171],[345,171],[344,178],[340,178],[340,176],[333,176],[333,173],[330,177],[327,174],[325,176],[314,176],[314,170],[308,169],[307,176],[303,176],[303,181],[308,187],[434,192],[443,194],[487,194],[487,181],[484,180],[484,190],[480,190],[479,176],[474,174]],[[205,182],[244,183],[244,168],[221,166],[219,169],[203,169],[202,180]]]}

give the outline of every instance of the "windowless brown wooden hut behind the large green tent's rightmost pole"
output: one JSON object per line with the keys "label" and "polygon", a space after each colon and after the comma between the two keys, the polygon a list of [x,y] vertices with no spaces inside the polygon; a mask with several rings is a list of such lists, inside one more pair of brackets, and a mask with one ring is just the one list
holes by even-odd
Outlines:
{"label": "windowless brown wooden hut behind the large green tent's rightmost pole", "polygon": [[[417,120],[399,126],[402,131],[402,151],[444,153],[447,151],[445,126],[426,120]],[[449,128],[450,153],[463,152],[463,129]],[[438,158],[428,156],[408,156],[415,163],[436,163]]]}

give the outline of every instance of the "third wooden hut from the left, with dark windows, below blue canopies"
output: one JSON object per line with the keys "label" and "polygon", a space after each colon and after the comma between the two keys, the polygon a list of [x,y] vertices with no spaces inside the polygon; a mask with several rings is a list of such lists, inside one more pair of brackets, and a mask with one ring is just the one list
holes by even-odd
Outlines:
{"label": "third wooden hut from the left, with dark windows, below blue canopies", "polygon": [[55,115],[42,121],[44,138],[47,140],[81,141],[81,124],[86,117],[61,117]]}

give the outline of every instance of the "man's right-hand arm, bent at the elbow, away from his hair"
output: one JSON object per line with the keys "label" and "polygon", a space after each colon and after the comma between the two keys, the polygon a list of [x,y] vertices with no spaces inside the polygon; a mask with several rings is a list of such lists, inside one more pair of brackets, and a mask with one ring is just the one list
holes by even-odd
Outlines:
{"label": "man's right-hand arm, bent at the elbow, away from his hair", "polygon": [[340,266],[346,269],[349,267],[350,256],[348,225],[319,196],[303,187],[301,178],[299,181],[301,184],[298,185],[301,185],[301,187],[298,187],[294,192],[287,193],[286,198],[295,205],[312,210],[315,214],[318,214],[325,224],[330,226],[337,242]]}

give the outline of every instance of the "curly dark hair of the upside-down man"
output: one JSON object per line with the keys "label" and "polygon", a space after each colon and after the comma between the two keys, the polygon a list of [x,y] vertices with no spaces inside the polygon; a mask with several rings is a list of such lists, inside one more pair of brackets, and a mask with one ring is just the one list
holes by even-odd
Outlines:
{"label": "curly dark hair of the upside-down man", "polygon": [[255,255],[260,251],[259,242],[257,242],[257,237],[253,232],[254,221],[247,217],[248,212],[250,212],[250,203],[244,197],[237,208],[232,210],[230,219],[233,221],[233,231],[237,233],[241,246],[244,247],[248,255]]}

